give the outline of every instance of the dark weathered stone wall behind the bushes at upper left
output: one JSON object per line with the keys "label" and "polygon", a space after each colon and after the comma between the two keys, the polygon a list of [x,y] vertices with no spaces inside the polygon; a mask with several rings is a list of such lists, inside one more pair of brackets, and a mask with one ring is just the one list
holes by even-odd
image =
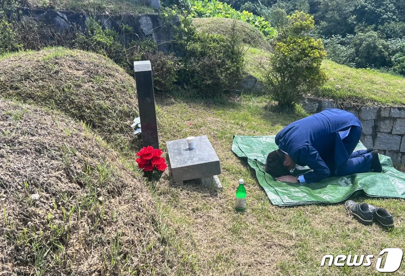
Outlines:
{"label": "dark weathered stone wall behind the bushes at upper left", "polygon": [[[103,28],[113,29],[119,32],[119,26],[128,25],[134,30],[132,35],[135,39],[153,39],[161,51],[169,51],[172,48],[171,41],[174,37],[174,26],[179,26],[178,17],[173,17],[170,24],[164,24],[157,13],[149,14],[125,14],[125,15],[108,15],[108,14],[87,14],[76,13],[72,11],[57,11],[50,9],[19,8],[19,19],[34,19],[47,23],[55,27],[60,32],[77,26],[82,30],[85,28],[85,22],[90,16],[102,23]],[[129,35],[126,36],[126,39]]]}

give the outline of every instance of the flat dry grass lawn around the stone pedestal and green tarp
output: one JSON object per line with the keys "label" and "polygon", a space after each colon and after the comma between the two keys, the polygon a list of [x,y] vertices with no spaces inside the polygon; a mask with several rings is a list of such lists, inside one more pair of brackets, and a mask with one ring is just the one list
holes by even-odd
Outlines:
{"label": "flat dry grass lawn around the stone pedestal and green tarp", "polygon": [[[190,135],[207,135],[221,161],[222,191],[171,183],[168,173],[153,187],[164,220],[172,225],[173,241],[196,275],[377,275],[371,267],[320,267],[326,254],[372,254],[405,246],[403,200],[357,197],[387,208],[396,227],[387,231],[364,226],[343,204],[273,206],[247,163],[230,150],[237,135],[277,134],[305,116],[273,112],[266,96],[242,95],[205,102],[157,98],[160,143]],[[247,212],[234,210],[239,178],[245,179]],[[181,241],[181,242],[180,242]],[[404,266],[395,274],[404,273]],[[180,275],[186,275],[179,273]],[[394,274],[394,275],[395,275]]]}

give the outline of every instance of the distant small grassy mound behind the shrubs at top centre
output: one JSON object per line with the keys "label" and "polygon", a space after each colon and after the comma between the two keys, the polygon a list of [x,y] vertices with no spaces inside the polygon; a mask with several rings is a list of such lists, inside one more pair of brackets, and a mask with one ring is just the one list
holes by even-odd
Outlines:
{"label": "distant small grassy mound behind the shrubs at top centre", "polygon": [[[231,35],[231,28],[234,19],[220,18],[220,17],[206,17],[206,18],[194,18],[193,23],[197,30],[200,32],[208,32],[211,34],[221,34],[225,37]],[[258,47],[266,49],[269,47],[266,38],[256,28],[249,23],[245,23],[239,20],[235,21],[236,32],[241,36],[243,43],[252,47]]]}

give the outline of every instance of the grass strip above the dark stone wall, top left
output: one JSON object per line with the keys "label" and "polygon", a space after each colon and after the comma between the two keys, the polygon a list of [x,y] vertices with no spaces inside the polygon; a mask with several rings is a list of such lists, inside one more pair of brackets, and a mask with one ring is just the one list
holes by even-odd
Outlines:
{"label": "grass strip above the dark stone wall, top left", "polygon": [[23,6],[29,8],[54,8],[77,12],[96,13],[152,13],[149,8],[133,0],[20,0]]}

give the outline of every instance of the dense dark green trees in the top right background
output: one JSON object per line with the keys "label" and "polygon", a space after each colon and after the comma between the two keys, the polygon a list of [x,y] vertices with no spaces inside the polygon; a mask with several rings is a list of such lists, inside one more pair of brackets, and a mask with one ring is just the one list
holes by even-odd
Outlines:
{"label": "dense dark green trees in the top right background", "polygon": [[295,10],[309,13],[315,21],[311,34],[322,38],[328,58],[349,66],[400,72],[394,56],[405,40],[404,0],[225,1],[236,9],[250,9],[277,30]]}

